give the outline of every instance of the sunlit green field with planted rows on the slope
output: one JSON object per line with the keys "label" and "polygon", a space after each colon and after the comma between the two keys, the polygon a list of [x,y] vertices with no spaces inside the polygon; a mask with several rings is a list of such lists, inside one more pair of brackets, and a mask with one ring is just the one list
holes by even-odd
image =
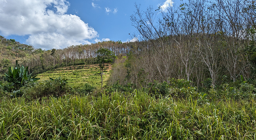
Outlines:
{"label": "sunlit green field with planted rows on the slope", "polygon": [[[108,64],[106,71],[103,74],[103,85],[106,85],[106,80],[109,76],[111,65]],[[36,77],[42,80],[56,79],[58,77],[67,78],[70,86],[80,86],[80,84],[88,83],[92,86],[101,86],[100,69],[98,65],[79,65],[57,68],[38,74]]]}

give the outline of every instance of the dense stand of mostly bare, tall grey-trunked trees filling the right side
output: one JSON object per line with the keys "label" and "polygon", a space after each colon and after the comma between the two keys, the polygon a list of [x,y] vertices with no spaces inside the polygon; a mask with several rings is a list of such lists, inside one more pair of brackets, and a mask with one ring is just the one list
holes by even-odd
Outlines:
{"label": "dense stand of mostly bare, tall grey-trunked trees filling the right side", "polygon": [[[170,78],[212,86],[256,74],[255,0],[186,0],[168,9],[136,6],[140,42],[115,64],[110,83],[145,86]],[[161,15],[161,16],[159,16]],[[118,72],[123,72],[119,74]]]}

